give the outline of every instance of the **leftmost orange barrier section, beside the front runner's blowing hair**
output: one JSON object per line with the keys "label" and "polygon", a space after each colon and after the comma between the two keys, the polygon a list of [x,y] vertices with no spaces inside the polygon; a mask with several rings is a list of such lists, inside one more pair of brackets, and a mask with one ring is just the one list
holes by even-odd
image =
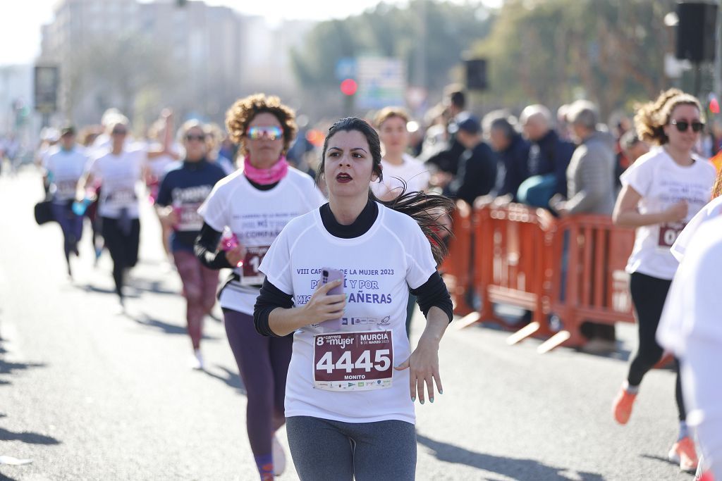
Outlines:
{"label": "leftmost orange barrier section, beside the front runner's blowing hair", "polygon": [[471,240],[473,238],[471,226],[471,209],[466,203],[458,203],[451,215],[451,230],[453,236],[449,241],[449,253],[444,258],[440,272],[443,273],[444,282],[451,294],[453,312],[465,316],[474,312],[469,304],[469,297],[473,291]]}

